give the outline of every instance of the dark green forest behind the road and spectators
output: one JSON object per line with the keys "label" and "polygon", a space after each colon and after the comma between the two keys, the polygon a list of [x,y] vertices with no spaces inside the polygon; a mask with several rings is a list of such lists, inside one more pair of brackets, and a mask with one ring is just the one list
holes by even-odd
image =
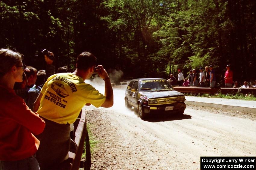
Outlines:
{"label": "dark green forest behind the road and spectators", "polygon": [[256,80],[255,23],[254,0],[6,0],[0,47],[17,49],[37,69],[43,48],[56,68],[74,69],[77,55],[90,51],[122,72],[120,80],[213,65],[223,86],[227,64],[234,81]]}

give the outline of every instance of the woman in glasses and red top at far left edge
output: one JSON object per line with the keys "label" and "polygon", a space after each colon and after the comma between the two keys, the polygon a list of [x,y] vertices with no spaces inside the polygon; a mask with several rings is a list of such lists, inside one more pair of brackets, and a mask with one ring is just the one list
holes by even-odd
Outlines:
{"label": "woman in glasses and red top at far left edge", "polygon": [[45,122],[32,112],[13,90],[22,82],[23,64],[20,53],[0,49],[0,170],[39,170],[35,153]]}

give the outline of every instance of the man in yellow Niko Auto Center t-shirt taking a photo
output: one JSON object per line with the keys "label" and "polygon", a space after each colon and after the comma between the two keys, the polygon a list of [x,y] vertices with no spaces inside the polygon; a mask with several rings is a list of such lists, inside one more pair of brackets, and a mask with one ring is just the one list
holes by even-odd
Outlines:
{"label": "man in yellow Niko Auto Center t-shirt taking a photo", "polygon": [[36,153],[41,170],[63,162],[70,145],[69,125],[74,123],[85,104],[95,107],[113,106],[113,90],[108,73],[98,65],[97,73],[105,81],[105,95],[84,81],[94,72],[96,57],[83,52],[77,57],[73,73],[50,76],[34,103],[34,111],[45,120],[45,130],[37,136],[40,146]]}

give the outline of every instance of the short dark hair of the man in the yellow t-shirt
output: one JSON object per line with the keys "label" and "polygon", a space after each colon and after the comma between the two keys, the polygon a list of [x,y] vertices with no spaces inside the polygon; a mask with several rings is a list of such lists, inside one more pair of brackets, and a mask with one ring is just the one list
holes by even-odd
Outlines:
{"label": "short dark hair of the man in the yellow t-shirt", "polygon": [[82,52],[78,55],[76,64],[77,69],[87,70],[88,68],[96,65],[97,58],[91,52]]}

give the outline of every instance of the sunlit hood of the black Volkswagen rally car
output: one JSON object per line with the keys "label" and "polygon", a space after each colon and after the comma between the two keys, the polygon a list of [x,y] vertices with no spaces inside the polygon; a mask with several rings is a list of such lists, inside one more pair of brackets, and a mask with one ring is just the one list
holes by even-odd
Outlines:
{"label": "sunlit hood of the black Volkswagen rally car", "polygon": [[147,96],[148,98],[160,98],[160,97],[174,97],[184,95],[178,91],[143,91],[141,94]]}

